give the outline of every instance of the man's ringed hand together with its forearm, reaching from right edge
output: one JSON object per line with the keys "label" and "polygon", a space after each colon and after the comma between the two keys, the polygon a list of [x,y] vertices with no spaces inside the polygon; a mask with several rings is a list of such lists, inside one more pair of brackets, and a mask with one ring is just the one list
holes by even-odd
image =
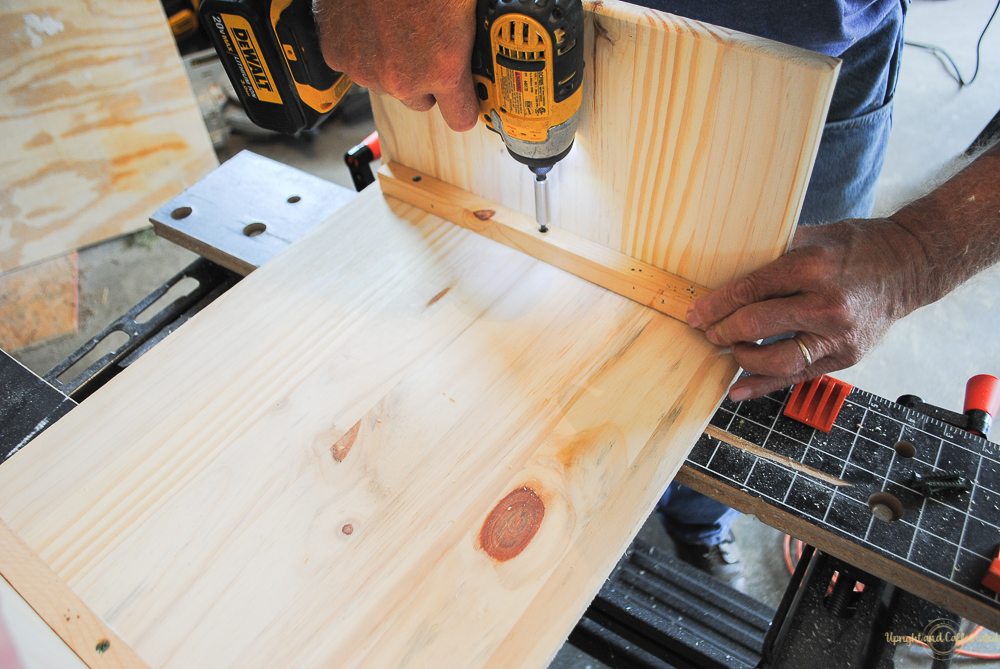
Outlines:
{"label": "man's ringed hand together with its forearm, reaching from right edge", "polygon": [[[1000,143],[889,218],[800,228],[770,265],[699,298],[688,323],[732,346],[754,376],[729,391],[760,397],[849,367],[899,318],[1000,262]],[[794,332],[790,339],[753,342]]]}

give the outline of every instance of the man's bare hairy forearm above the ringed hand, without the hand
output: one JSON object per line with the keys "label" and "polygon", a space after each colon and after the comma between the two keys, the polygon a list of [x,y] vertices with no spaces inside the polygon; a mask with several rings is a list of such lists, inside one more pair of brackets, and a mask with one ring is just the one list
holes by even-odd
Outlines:
{"label": "man's bare hairy forearm above the ringed hand, without the hand", "polygon": [[908,311],[1000,262],[1000,143],[889,220],[915,242]]}

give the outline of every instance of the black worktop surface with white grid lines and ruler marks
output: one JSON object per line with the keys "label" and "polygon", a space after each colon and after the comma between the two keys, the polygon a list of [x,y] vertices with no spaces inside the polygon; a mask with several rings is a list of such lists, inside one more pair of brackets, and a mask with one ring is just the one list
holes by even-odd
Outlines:
{"label": "black worktop surface with white grid lines and ruler marks", "polygon": [[[702,435],[687,464],[772,506],[860,544],[963,594],[997,605],[980,580],[1000,545],[1000,447],[888,400],[853,390],[830,434],[783,415],[790,391],[733,403],[710,423],[827,474],[847,486],[758,458]],[[916,449],[912,458],[897,442]],[[925,497],[907,481],[914,472],[959,470],[971,493]],[[896,522],[871,515],[868,498],[887,492],[904,509]]]}

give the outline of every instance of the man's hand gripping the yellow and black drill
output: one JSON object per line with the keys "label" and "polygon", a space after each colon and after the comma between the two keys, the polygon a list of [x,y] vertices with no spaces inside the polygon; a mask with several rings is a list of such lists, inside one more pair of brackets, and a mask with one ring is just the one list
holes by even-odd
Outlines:
{"label": "man's hand gripping the yellow and black drill", "polygon": [[331,68],[416,111],[437,102],[453,130],[476,125],[474,0],[314,0],[313,10]]}

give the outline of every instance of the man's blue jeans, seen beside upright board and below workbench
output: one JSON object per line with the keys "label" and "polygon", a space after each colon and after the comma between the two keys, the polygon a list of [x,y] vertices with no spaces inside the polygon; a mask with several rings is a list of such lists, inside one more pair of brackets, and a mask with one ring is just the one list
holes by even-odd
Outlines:
{"label": "man's blue jeans, seen beside upright board and below workbench", "polygon": [[[892,128],[892,97],[903,49],[904,2],[845,51],[799,225],[867,218]],[[677,541],[714,546],[740,512],[671,483],[656,505]]]}

